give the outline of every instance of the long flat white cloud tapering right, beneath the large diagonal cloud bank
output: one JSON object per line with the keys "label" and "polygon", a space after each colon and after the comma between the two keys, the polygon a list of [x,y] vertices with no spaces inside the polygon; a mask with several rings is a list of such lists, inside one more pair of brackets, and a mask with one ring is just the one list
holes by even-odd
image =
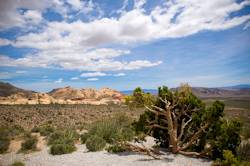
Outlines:
{"label": "long flat white cloud tapering right, beneath the large diagonal cloud bank", "polygon": [[160,62],[130,61],[120,62],[113,58],[126,55],[127,50],[96,49],[88,52],[74,51],[72,49],[58,49],[42,51],[35,55],[27,55],[23,58],[13,59],[0,55],[0,66],[24,66],[24,67],[61,67],[66,70],[81,71],[118,71],[133,70],[143,67],[152,67]]}

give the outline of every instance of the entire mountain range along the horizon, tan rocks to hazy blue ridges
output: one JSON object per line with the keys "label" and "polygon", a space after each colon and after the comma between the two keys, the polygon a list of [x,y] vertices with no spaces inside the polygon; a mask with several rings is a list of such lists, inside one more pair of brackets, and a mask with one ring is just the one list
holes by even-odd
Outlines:
{"label": "entire mountain range along the horizon, tan rocks to hazy blue ridges", "polygon": [[[172,88],[171,90],[176,90]],[[156,95],[156,89],[144,89],[144,92]],[[221,88],[192,87],[192,92],[200,98],[250,98],[250,85],[236,85]],[[0,104],[107,104],[120,103],[124,95],[133,90],[116,91],[110,88],[100,90],[64,87],[53,89],[49,93],[39,93],[17,88],[9,83],[0,82]]]}

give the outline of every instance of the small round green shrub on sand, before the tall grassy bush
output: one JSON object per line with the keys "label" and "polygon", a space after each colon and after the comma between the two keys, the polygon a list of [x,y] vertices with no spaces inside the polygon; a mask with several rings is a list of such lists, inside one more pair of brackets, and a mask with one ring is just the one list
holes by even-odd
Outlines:
{"label": "small round green shrub on sand, before the tall grassy bush", "polygon": [[106,141],[97,135],[93,135],[86,140],[86,147],[93,152],[102,150],[105,145]]}

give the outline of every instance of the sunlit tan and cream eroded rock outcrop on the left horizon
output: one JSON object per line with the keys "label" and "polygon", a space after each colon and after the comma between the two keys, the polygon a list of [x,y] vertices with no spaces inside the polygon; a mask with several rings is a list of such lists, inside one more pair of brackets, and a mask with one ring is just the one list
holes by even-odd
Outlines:
{"label": "sunlit tan and cream eroded rock outcrop on the left horizon", "polygon": [[[6,90],[5,90],[6,91]],[[0,104],[119,104],[123,102],[124,95],[119,91],[102,88],[100,90],[86,88],[74,89],[72,87],[54,89],[49,93],[31,92],[27,95],[25,90],[18,91],[9,96],[0,97]]]}

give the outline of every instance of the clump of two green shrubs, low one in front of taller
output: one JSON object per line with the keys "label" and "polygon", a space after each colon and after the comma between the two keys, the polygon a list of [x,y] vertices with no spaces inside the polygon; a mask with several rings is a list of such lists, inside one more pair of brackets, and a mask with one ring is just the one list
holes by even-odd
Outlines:
{"label": "clump of two green shrubs, low one in front of taller", "polygon": [[75,130],[56,131],[49,137],[50,153],[53,155],[71,153],[76,150],[74,142],[78,139],[79,134]]}

